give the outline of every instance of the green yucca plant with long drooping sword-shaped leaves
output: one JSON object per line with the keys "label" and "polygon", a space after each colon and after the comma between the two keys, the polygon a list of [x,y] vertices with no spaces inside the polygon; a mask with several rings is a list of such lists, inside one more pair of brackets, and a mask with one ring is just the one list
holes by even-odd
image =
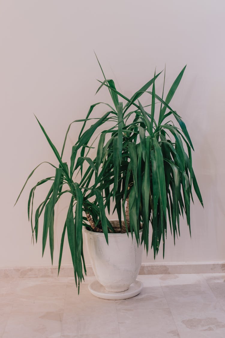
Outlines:
{"label": "green yucca plant with long drooping sword-shaped leaves", "polygon": [[[100,68],[102,70],[101,65]],[[37,120],[56,155],[58,166],[48,162],[55,168],[55,175],[40,180],[30,191],[28,219],[31,222],[32,236],[35,235],[37,241],[38,220],[44,212],[43,254],[49,234],[53,262],[54,207],[63,194],[70,194],[71,201],[61,237],[58,271],[67,232],[78,290],[80,282],[84,279],[83,271],[86,274],[83,226],[89,227],[91,231],[103,232],[107,243],[109,232],[127,232],[132,237],[134,234],[137,242],[143,242],[148,252],[149,224],[151,224],[151,248],[154,257],[158,254],[161,240],[164,256],[167,224],[170,226],[174,244],[175,237],[180,235],[181,215],[186,216],[190,228],[192,187],[203,206],[192,169],[191,150],[194,149],[190,136],[181,117],[169,105],[185,68],[175,79],[165,100],[163,94],[161,97],[155,92],[155,81],[161,73],[154,74],[154,77],[129,99],[116,90],[114,81],[106,79],[102,70],[104,80],[99,81],[101,86],[97,92],[102,87],[107,87],[113,104],[95,103],[90,106],[86,119],[73,121],[66,131],[61,154]],[[147,93],[150,98],[147,106],[143,106],[139,101],[143,93]],[[106,105],[108,111],[103,116],[92,119],[90,117],[92,111],[100,104]],[[91,120],[94,123],[86,127],[87,121]],[[67,163],[63,162],[64,147],[71,125],[78,122],[83,122],[83,125],[72,148],[68,167]],[[98,141],[96,156],[91,159],[88,154],[93,148],[94,140]],[[84,162],[88,164],[86,171],[83,170]],[[28,176],[24,187],[38,167],[39,165]],[[40,203],[33,215],[35,189],[49,181],[52,182],[52,186],[46,199]],[[106,210],[109,215],[111,214],[112,201],[113,212],[116,211],[119,220],[119,229],[115,228],[106,216]],[[140,238],[141,228],[143,231]]]}

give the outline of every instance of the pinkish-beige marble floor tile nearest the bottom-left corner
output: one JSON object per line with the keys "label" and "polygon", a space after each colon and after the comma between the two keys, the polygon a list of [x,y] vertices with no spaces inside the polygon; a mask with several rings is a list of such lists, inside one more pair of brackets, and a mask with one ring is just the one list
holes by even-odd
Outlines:
{"label": "pinkish-beige marble floor tile nearest the bottom-left corner", "polygon": [[62,313],[13,313],[6,324],[2,338],[59,338]]}

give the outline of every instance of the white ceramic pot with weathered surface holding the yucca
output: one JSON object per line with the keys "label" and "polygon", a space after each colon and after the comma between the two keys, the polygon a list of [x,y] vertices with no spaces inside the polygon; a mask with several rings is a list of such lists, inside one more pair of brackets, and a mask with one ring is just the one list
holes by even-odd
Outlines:
{"label": "white ceramic pot with weathered surface holding the yucca", "polygon": [[[97,281],[107,291],[122,292],[135,282],[141,266],[143,245],[137,245],[135,235],[108,234],[109,245],[103,233],[83,227],[91,265]],[[141,237],[140,231],[140,237]]]}

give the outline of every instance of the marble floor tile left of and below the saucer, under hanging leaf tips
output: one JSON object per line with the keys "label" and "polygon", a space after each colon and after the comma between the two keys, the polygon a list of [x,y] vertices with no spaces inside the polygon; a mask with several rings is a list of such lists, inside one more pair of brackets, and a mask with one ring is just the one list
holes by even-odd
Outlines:
{"label": "marble floor tile left of and below the saucer, under hanging leaf tips", "polygon": [[[94,279],[90,277],[88,282]],[[68,282],[65,292],[62,337],[72,334],[72,337],[73,335],[84,338],[85,335],[100,335],[104,338],[109,333],[111,334],[109,338],[113,338],[113,335],[116,338],[119,333],[115,301],[93,296],[86,283],[82,283],[78,295],[75,283]]]}

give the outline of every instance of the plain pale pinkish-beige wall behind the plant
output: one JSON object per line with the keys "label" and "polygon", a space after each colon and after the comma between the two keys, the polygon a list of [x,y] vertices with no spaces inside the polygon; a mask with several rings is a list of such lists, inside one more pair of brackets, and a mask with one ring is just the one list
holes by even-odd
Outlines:
{"label": "plain pale pinkish-beige wall behind the plant", "polygon": [[[188,65],[172,103],[194,144],[193,166],[205,208],[195,198],[192,239],[182,222],[175,247],[168,233],[164,261],[225,261],[224,10],[223,0],[0,2],[0,267],[50,264],[49,247],[41,258],[41,232],[38,244],[31,244],[27,220],[29,190],[52,173],[47,164],[13,204],[38,163],[56,163],[33,113],[61,150],[67,125],[84,117],[90,104],[109,100],[106,90],[94,96],[95,79],[102,76],[93,49],[126,96],[147,82],[156,66],[160,71],[166,63],[168,90]],[[78,130],[74,125],[67,160]],[[36,200],[44,197],[45,189],[39,188]],[[54,264],[66,202],[56,211]],[[143,261],[152,262],[153,252]],[[163,261],[161,254],[156,261]],[[63,264],[71,264],[67,243]]]}

